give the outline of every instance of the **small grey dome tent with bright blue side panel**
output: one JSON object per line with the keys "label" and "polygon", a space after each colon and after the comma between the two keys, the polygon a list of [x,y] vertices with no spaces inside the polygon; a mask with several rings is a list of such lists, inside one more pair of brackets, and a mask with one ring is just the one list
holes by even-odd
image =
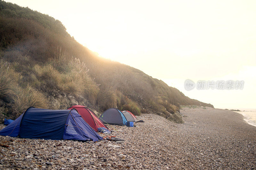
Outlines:
{"label": "small grey dome tent with bright blue side panel", "polygon": [[100,115],[99,119],[105,124],[113,125],[126,125],[127,122],[124,114],[116,108],[109,108]]}

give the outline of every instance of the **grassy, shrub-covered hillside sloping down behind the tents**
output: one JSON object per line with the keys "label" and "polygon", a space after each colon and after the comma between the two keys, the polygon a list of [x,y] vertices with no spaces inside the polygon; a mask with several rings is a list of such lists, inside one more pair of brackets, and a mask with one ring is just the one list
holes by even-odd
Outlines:
{"label": "grassy, shrub-covered hillside sloping down behind the tents", "polygon": [[[15,118],[29,106],[81,104],[165,118],[180,105],[213,107],[128,65],[97,56],[59,20],[0,1],[0,111]],[[175,73],[173,73],[175,74]]]}

